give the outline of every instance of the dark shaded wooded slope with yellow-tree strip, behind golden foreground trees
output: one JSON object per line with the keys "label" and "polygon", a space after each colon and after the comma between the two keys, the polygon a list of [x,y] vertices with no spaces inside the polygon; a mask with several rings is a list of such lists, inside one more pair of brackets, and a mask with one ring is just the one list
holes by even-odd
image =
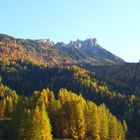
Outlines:
{"label": "dark shaded wooded slope with yellow-tree strip, behind golden foreground trees", "polygon": [[140,137],[137,125],[140,122],[140,99],[114,92],[105,82],[96,79],[95,72],[77,66],[46,68],[17,62],[6,65],[0,75],[3,83],[16,90],[18,95],[30,97],[33,91],[47,87],[57,97],[59,90],[66,88],[97,105],[104,103],[119,120],[126,120],[130,140]]}

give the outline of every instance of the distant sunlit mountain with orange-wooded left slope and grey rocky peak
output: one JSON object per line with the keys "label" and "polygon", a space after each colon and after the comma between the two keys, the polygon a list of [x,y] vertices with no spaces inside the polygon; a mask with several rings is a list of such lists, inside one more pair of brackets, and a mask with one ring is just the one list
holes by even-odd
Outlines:
{"label": "distant sunlit mountain with orange-wooded left slope and grey rocky peak", "polygon": [[16,39],[0,34],[0,60],[30,61],[37,65],[111,65],[124,60],[97,44],[95,38],[54,43],[50,39]]}

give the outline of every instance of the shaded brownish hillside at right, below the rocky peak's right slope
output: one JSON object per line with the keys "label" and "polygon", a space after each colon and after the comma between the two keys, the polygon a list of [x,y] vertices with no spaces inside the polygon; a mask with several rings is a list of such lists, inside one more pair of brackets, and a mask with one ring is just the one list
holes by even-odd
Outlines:
{"label": "shaded brownish hillside at right, below the rocky peak's right slope", "polygon": [[112,90],[140,97],[140,63],[92,68],[96,78],[105,81]]}

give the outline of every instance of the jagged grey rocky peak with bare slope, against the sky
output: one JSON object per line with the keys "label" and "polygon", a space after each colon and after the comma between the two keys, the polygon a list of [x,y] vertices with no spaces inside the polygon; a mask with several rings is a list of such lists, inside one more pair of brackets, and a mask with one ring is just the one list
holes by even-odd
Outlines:
{"label": "jagged grey rocky peak with bare slope, against the sky", "polygon": [[56,43],[54,45],[60,49],[62,54],[77,60],[79,63],[87,64],[119,64],[124,61],[116,55],[102,48],[96,38],[86,39],[84,41],[77,39],[68,44]]}

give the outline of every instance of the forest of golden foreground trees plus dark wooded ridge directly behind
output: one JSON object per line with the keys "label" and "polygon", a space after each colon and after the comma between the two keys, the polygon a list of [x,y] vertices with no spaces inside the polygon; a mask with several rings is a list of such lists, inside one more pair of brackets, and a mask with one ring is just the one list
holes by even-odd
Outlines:
{"label": "forest of golden foreground trees plus dark wooded ridge directly behind", "polygon": [[139,99],[111,91],[95,72],[16,62],[1,63],[0,74],[1,139],[139,136]]}

